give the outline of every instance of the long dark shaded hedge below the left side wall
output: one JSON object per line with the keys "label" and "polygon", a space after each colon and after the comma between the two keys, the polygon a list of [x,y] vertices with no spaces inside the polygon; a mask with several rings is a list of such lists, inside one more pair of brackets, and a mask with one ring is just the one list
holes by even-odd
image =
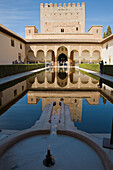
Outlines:
{"label": "long dark shaded hedge below the left side wall", "polygon": [[0,78],[45,67],[45,64],[0,65]]}

